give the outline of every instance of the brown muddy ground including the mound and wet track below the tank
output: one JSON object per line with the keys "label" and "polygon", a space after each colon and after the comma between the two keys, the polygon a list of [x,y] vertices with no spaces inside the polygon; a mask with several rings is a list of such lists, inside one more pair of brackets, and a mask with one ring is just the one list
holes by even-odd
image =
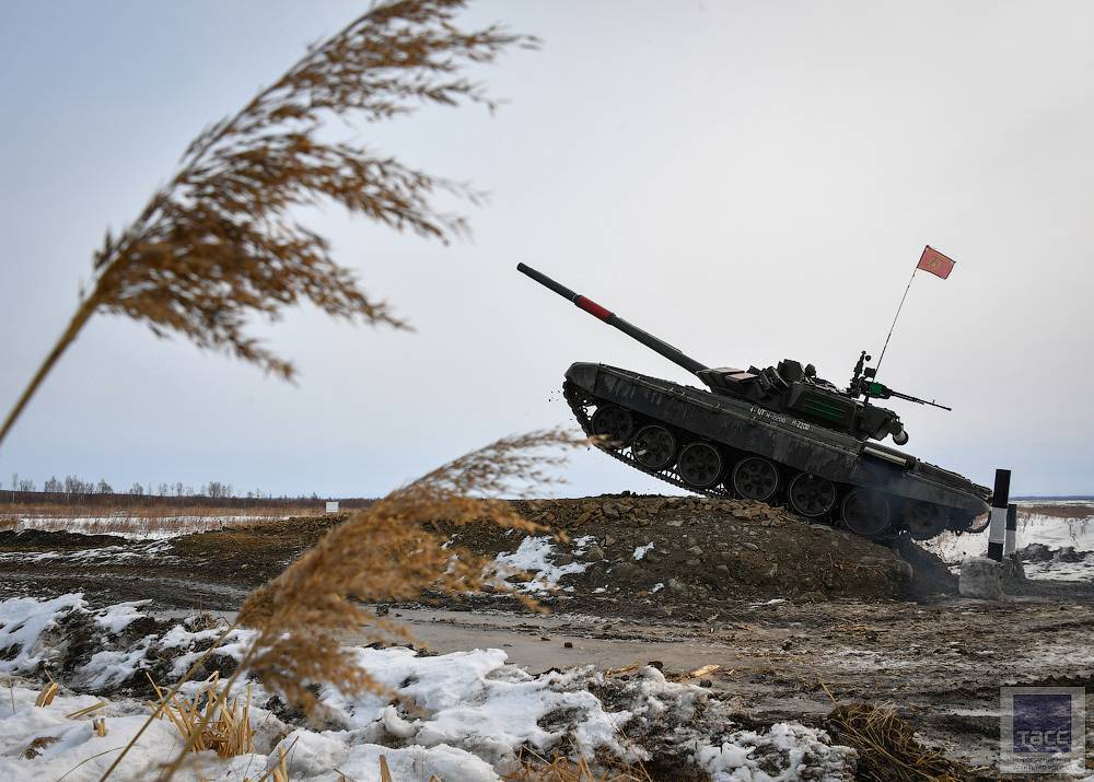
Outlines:
{"label": "brown muddy ground including the mound and wet track below the tank", "polygon": [[[833,698],[892,702],[975,766],[996,751],[1000,686],[1094,679],[1090,583],[1015,583],[1003,603],[963,599],[941,561],[908,541],[876,545],[753,503],[618,495],[520,506],[569,537],[554,544],[554,564],[585,565],[543,596],[549,616],[502,595],[384,609],[438,651],[500,646],[533,670],[719,665],[711,686],[759,721],[819,722]],[[79,591],[101,605],[151,598],[164,611],[231,611],[339,522],[168,541],[0,533],[0,598]],[[524,537],[450,532],[491,556]]]}

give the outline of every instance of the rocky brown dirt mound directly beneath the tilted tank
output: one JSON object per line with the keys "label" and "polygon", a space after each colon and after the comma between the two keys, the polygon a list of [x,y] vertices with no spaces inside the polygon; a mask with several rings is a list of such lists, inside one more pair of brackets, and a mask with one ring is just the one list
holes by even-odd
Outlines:
{"label": "rocky brown dirt mound directly beneath the tilted tank", "polygon": [[[885,599],[912,590],[912,569],[893,550],[763,503],[618,494],[516,505],[569,538],[535,540],[548,576],[524,587],[537,592],[558,575],[558,590],[540,597],[567,610],[616,604],[624,612],[702,618],[722,600]],[[521,562],[527,557],[507,555],[532,553],[511,530],[451,532],[453,542],[480,555]]]}

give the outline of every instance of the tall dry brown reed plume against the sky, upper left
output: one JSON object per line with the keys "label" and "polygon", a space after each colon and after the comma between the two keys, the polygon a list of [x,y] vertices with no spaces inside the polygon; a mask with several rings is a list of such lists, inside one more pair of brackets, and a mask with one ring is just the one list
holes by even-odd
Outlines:
{"label": "tall dry brown reed plume against the sky, upper left", "polygon": [[246,334],[248,317],[277,319],[284,307],[307,300],[335,317],[405,328],[293,211],[333,201],[442,242],[466,229],[462,217],[434,206],[441,190],[474,201],[465,185],[321,138],[334,117],[375,122],[427,104],[465,102],[492,108],[462,69],[536,42],[499,25],[461,30],[454,17],[465,4],[382,2],[312,46],[237,114],[201,132],[137,219],[117,234],[107,232],[89,289],[0,427],[0,442],[96,312],[128,316],[156,336],[182,334],[286,378],[292,365]]}

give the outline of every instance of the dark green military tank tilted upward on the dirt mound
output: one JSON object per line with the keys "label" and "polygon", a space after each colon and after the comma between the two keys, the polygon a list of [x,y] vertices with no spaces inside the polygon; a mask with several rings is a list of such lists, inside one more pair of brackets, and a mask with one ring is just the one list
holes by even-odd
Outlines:
{"label": "dark green military tank tilted upward on the dirt mound", "polygon": [[988,512],[987,487],[881,444],[909,436],[900,417],[873,400],[950,408],[878,383],[865,351],[843,389],[790,359],[710,367],[539,271],[516,268],[703,384],[572,364],[563,396],[597,447],[620,462],[700,494],[784,503],[811,522],[874,539],[967,532]]}

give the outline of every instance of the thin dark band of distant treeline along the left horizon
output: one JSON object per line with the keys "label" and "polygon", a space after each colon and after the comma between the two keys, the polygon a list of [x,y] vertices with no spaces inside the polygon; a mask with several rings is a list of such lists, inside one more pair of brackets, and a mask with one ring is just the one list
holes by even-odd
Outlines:
{"label": "thin dark band of distant treeline along the left horizon", "polygon": [[94,507],[311,507],[337,500],[340,509],[368,507],[375,500],[364,498],[312,497],[211,497],[208,494],[118,494],[113,492],[11,491],[0,489],[3,505],[83,505]]}

